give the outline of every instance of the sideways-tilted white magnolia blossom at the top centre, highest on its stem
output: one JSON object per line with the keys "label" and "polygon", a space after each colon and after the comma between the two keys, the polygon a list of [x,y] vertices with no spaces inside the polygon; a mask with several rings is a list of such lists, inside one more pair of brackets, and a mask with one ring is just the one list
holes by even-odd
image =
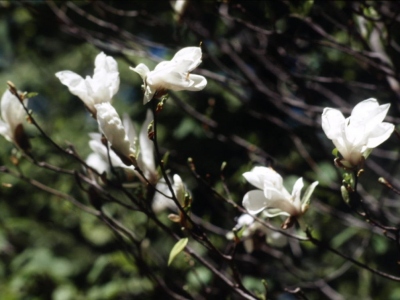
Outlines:
{"label": "sideways-tilted white magnolia blossom at the top centre, highest on its stem", "polygon": [[207,80],[200,75],[190,74],[201,63],[200,47],[187,47],[178,51],[170,61],[160,62],[153,71],[145,64],[130,68],[138,73],[144,82],[143,103],[149,102],[156,93],[172,91],[200,91]]}

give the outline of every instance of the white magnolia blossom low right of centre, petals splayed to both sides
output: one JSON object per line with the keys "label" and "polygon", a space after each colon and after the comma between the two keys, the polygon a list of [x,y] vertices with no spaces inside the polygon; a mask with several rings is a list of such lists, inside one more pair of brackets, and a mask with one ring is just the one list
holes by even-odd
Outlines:
{"label": "white magnolia blossom low right of centre, petals splayed to both sides", "polygon": [[310,196],[318,185],[312,183],[300,200],[303,179],[299,178],[293,186],[292,194],[284,188],[282,177],[271,168],[254,167],[243,174],[244,178],[258,188],[248,192],[243,198],[243,206],[250,214],[264,210],[267,217],[278,215],[297,217],[303,215],[310,202]]}

